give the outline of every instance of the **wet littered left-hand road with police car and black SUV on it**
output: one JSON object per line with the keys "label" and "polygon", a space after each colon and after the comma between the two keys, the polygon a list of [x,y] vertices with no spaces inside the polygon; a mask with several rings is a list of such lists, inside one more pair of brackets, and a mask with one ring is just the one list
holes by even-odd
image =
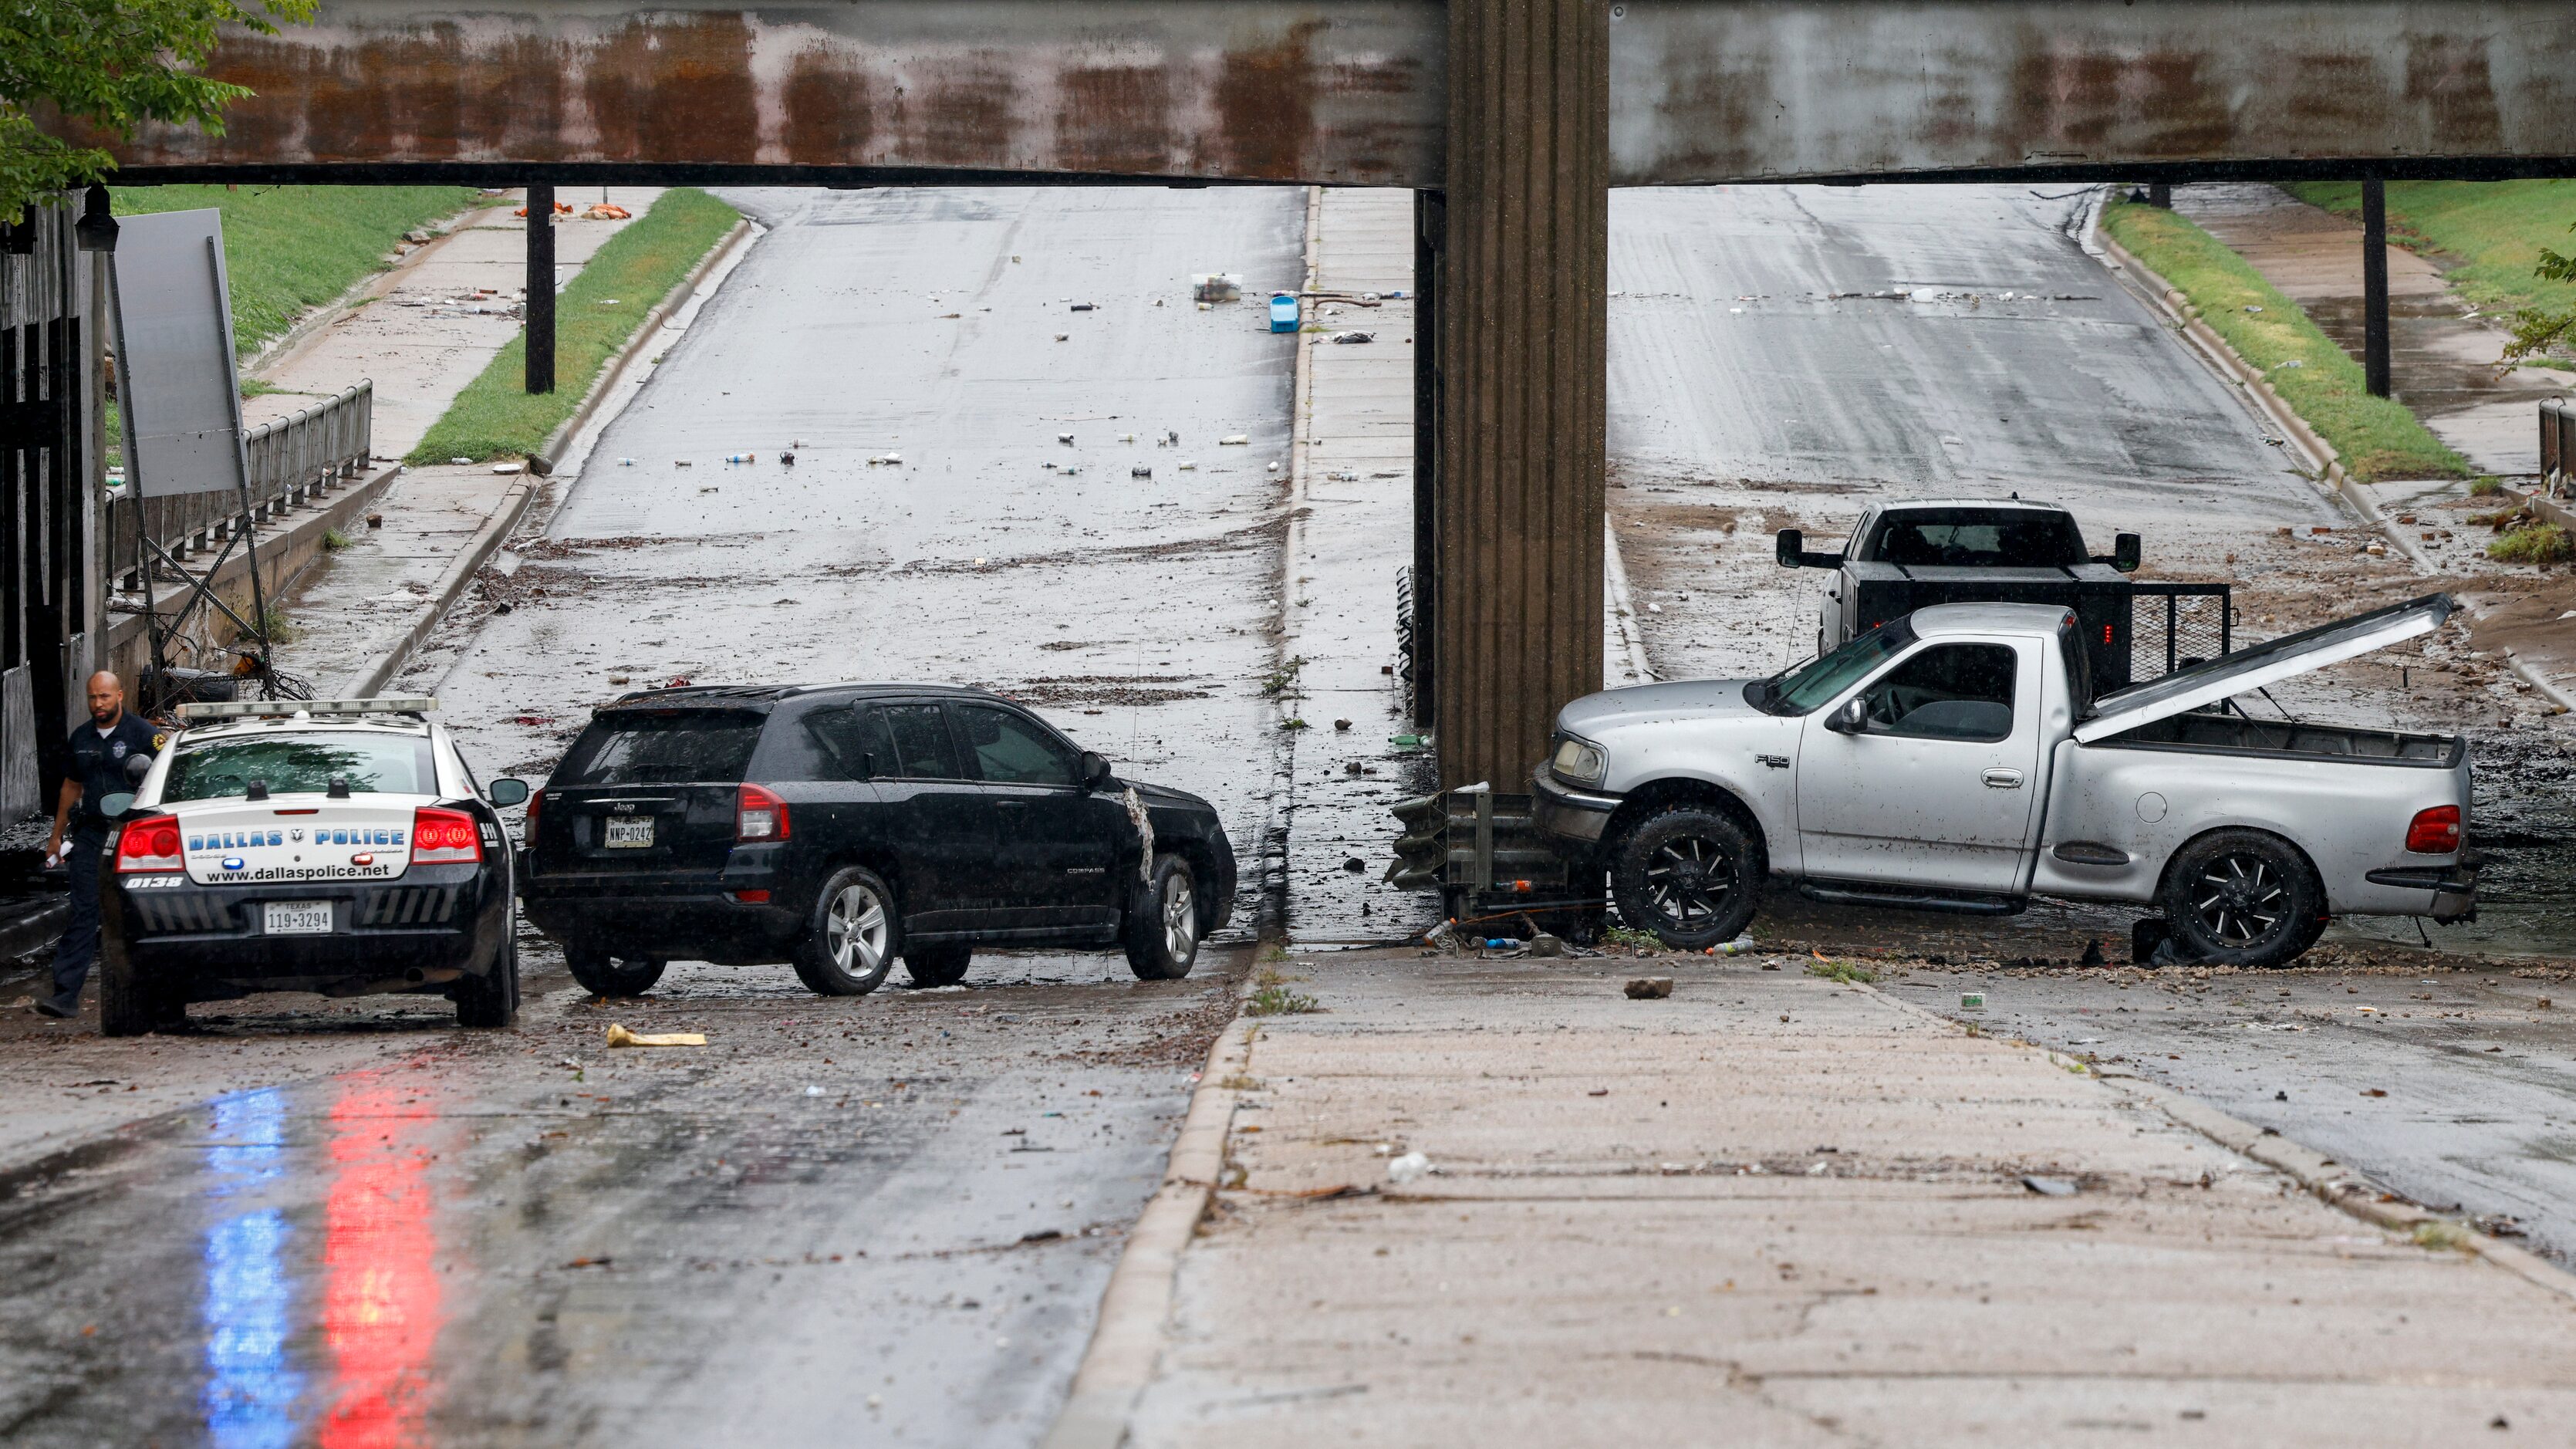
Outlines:
{"label": "wet littered left-hand road with police car and black SUV on it", "polygon": [[[1293,353],[1188,273],[1293,284],[1303,196],[734,201],[773,229],[402,688],[544,779],[667,678],[1007,686],[1216,802],[1255,882]],[[1028,1444],[1244,957],[860,1000],[675,962],[600,1008],[523,954],[492,1036],[399,998],[13,1018],[5,1096],[62,1119],[0,1134],[0,1439]],[[603,1052],[611,1018],[708,1047]],[[149,1096],[80,1085],[118,1078]]]}

